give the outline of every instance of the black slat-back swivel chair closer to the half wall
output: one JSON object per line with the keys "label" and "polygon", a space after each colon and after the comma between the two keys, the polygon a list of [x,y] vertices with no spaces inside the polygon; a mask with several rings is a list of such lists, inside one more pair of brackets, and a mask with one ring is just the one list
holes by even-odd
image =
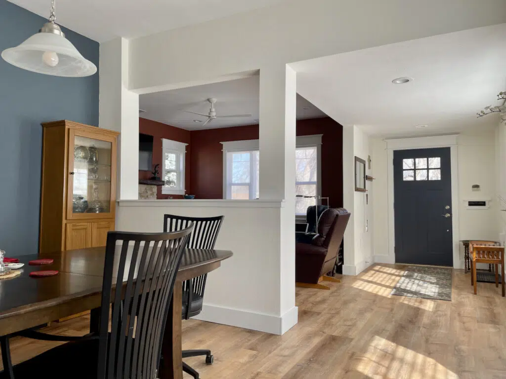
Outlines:
{"label": "black slat-back swivel chair closer to the half wall", "polygon": [[[163,218],[164,231],[176,231],[193,223],[193,232],[188,240],[188,248],[193,249],[214,249],[218,232],[220,231],[225,216],[216,217],[185,217],[166,214]],[[207,274],[186,280],[183,283],[183,314],[182,318],[187,320],[196,316],[202,310],[202,302],[205,290]],[[213,363],[213,355],[210,350],[183,350],[183,358],[205,355],[205,363]],[[198,372],[183,362],[183,371],[198,379]]]}

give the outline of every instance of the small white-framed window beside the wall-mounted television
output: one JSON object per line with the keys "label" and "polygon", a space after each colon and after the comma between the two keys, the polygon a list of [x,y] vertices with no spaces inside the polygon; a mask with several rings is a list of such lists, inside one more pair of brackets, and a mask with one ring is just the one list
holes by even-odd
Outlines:
{"label": "small white-framed window beside the wall-mounted television", "polygon": [[162,194],[185,194],[186,145],[178,141],[162,139],[162,180],[165,180],[165,185],[161,189]]}

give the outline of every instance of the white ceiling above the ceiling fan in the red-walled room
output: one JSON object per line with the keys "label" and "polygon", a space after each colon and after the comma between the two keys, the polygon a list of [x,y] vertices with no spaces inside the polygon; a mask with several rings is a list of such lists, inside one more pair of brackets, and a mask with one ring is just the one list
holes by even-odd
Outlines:
{"label": "white ceiling above the ceiling fan in the red-walled room", "polygon": [[[141,94],[139,107],[146,112],[141,117],[187,130],[214,129],[229,126],[258,124],[259,121],[259,76],[222,81],[170,91]],[[251,114],[244,118],[218,118],[202,128],[205,117],[184,111],[207,114],[210,104],[208,98],[217,98],[215,104],[218,116]],[[305,109],[309,108],[309,109]],[[297,96],[297,118],[317,118],[326,116],[301,96]],[[196,123],[193,120],[200,120]]]}

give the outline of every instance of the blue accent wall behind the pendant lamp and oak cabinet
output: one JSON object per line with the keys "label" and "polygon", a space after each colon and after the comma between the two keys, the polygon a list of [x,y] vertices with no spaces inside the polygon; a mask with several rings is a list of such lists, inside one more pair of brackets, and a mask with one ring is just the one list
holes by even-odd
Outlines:
{"label": "blue accent wall behind the pendant lamp and oak cabinet", "polygon": [[[50,2],[48,13],[49,7]],[[45,22],[0,0],[0,51],[20,44]],[[98,67],[99,43],[62,29]],[[62,78],[22,70],[0,59],[0,249],[8,257],[38,252],[40,123],[67,119],[98,126],[98,107],[98,72],[86,78]]]}

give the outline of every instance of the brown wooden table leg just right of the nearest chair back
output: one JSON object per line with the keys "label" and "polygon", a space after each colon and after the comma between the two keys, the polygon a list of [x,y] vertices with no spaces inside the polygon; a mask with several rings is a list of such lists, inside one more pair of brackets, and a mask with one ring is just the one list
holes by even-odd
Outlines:
{"label": "brown wooden table leg just right of the nearest chair back", "polygon": [[183,379],[183,353],[181,352],[182,286],[181,280],[176,280],[161,347],[163,359],[158,374],[160,379]]}

